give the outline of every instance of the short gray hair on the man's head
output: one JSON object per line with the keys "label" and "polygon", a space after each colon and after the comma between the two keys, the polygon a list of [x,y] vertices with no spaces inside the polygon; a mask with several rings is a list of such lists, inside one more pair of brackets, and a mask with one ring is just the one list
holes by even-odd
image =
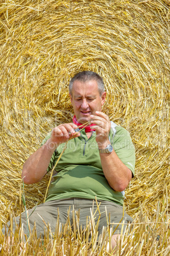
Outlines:
{"label": "short gray hair on the man's head", "polygon": [[95,80],[98,84],[98,91],[100,96],[103,94],[103,92],[105,92],[105,85],[103,83],[103,78],[101,78],[100,75],[98,75],[97,73],[93,72],[93,71],[82,71],[77,73],[71,80],[69,83],[69,93],[70,95],[72,95],[72,86],[75,80],[79,80],[81,82],[86,82],[89,80]]}

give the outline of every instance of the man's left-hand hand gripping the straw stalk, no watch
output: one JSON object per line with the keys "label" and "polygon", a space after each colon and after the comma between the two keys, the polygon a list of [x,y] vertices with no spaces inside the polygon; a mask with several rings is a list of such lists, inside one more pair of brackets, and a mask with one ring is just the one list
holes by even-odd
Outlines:
{"label": "man's left-hand hand gripping the straw stalk, no watch", "polygon": [[51,138],[49,139],[50,143],[59,146],[61,143],[65,143],[72,137],[79,137],[81,134],[79,132],[75,132],[75,129],[77,129],[77,125],[72,123],[56,126],[51,132]]}

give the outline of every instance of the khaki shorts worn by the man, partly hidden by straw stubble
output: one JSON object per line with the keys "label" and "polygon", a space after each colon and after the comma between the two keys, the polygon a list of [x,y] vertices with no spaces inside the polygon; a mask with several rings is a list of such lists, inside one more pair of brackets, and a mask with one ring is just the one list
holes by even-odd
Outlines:
{"label": "khaki shorts worn by the man, partly hidden by straw stubble", "polygon": [[[34,223],[36,222],[37,237],[41,236],[44,238],[44,228],[46,229],[48,224],[50,224],[51,232],[55,232],[57,220],[60,224],[64,225],[67,223],[69,217],[70,225],[74,224],[74,220],[79,220],[79,227],[82,227],[82,229],[87,227],[89,220],[93,219],[95,225],[99,220],[98,235],[101,234],[103,227],[108,227],[108,225],[112,227],[114,234],[118,232],[121,234],[121,229],[123,228],[124,230],[126,224],[133,221],[126,213],[124,213],[123,217],[123,208],[119,204],[110,201],[98,201],[97,203],[99,207],[93,199],[70,198],[39,204],[35,209],[32,208],[27,212],[30,231],[32,232]],[[21,218],[20,216],[15,218],[16,221],[13,221],[13,233],[16,228],[15,222],[19,224],[21,221],[23,232],[28,235],[26,219],[25,212],[22,213]],[[122,222],[124,225],[122,225]],[[9,225],[10,222],[8,222],[8,227]],[[6,231],[8,232],[8,228],[6,228],[6,231],[3,228],[2,231],[4,234]]]}

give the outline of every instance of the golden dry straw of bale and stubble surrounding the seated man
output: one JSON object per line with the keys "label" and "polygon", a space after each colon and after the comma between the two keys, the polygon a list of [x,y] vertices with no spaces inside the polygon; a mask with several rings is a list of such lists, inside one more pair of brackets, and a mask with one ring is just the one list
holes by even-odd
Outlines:
{"label": "golden dry straw of bale and stubble surrounding the seated man", "polygon": [[[119,248],[124,255],[169,255],[169,19],[167,0],[1,0],[2,223],[20,213],[23,162],[54,125],[72,120],[70,77],[93,70],[105,81],[103,110],[128,129],[136,148],[136,176],[125,201],[134,238],[122,237]],[[48,179],[25,185],[27,208],[43,201]],[[109,255],[107,231],[100,245],[94,237],[90,246],[66,233],[45,245],[32,237],[23,252]],[[19,252],[17,239],[11,250]]]}

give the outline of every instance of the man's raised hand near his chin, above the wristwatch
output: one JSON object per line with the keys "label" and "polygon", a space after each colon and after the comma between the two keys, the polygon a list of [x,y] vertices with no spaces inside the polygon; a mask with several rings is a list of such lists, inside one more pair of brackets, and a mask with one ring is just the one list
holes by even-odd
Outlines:
{"label": "man's raised hand near his chin, above the wristwatch", "polygon": [[96,115],[91,115],[90,118],[91,124],[95,124],[93,129],[96,130],[96,143],[98,143],[98,147],[101,149],[106,148],[110,144],[108,136],[111,124],[108,116],[103,112],[96,111]]}

